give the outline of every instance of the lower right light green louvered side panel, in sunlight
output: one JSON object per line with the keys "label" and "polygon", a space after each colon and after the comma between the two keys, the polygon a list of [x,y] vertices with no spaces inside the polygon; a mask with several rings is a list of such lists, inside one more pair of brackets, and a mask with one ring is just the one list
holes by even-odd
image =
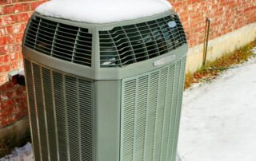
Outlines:
{"label": "lower right light green louvered side panel, in sunlight", "polygon": [[122,81],[122,161],[174,160],[185,61]]}

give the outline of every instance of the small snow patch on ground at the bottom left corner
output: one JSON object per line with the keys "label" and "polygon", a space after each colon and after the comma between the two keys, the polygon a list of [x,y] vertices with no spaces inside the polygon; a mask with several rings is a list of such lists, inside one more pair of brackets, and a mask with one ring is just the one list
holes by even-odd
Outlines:
{"label": "small snow patch on ground at the bottom left corner", "polygon": [[24,147],[15,147],[10,155],[0,161],[34,161],[31,143],[26,143]]}

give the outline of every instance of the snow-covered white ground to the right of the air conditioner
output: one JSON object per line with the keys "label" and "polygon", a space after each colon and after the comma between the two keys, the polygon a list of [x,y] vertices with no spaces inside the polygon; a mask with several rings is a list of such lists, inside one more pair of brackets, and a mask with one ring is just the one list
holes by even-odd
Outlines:
{"label": "snow-covered white ground to the right of the air conditioner", "polygon": [[182,110],[182,161],[255,161],[256,59],[211,83],[194,84]]}

